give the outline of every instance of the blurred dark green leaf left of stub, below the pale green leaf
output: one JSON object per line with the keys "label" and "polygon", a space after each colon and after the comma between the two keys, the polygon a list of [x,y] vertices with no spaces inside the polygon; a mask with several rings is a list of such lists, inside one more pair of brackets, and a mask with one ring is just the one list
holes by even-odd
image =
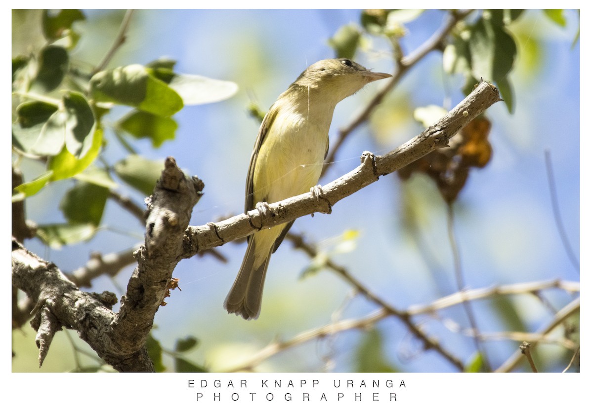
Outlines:
{"label": "blurred dark green leaf left of stub, below the pale green leaf", "polygon": [[60,210],[71,224],[93,224],[98,226],[109,189],[87,182],[78,182],[68,190],[60,202]]}

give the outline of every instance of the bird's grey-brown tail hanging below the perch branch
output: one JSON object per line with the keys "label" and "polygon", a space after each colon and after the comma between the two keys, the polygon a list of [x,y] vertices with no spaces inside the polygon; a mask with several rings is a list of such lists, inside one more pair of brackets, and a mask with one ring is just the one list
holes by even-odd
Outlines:
{"label": "bird's grey-brown tail hanging below the perch branch", "polygon": [[270,262],[272,248],[266,258],[256,256],[256,240],[249,240],[243,264],[235,282],[224,301],[228,313],[243,316],[243,319],[257,319],[262,307],[263,282],[266,279],[267,265]]}

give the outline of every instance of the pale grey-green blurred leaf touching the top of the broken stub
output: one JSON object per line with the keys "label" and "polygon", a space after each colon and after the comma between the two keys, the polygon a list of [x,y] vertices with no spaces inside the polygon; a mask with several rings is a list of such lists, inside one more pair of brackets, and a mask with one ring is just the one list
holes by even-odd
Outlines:
{"label": "pale grey-green blurred leaf touching the top of the broken stub", "polygon": [[139,155],[130,155],[114,166],[119,178],[145,195],[152,194],[163,168],[163,160],[149,160]]}

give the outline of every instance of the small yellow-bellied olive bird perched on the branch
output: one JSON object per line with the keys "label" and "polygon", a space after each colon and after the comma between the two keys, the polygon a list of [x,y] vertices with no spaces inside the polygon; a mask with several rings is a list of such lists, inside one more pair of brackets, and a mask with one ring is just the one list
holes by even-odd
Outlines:
{"label": "small yellow-bellied olive bird perched on the branch", "polygon": [[[390,76],[347,58],[321,60],[305,69],[263,118],[251,153],[245,210],[303,194],[317,185],[336,104],[367,83]],[[224,302],[229,313],[257,319],[270,256],[291,226],[292,222],[282,224],[248,237],[243,264]]]}

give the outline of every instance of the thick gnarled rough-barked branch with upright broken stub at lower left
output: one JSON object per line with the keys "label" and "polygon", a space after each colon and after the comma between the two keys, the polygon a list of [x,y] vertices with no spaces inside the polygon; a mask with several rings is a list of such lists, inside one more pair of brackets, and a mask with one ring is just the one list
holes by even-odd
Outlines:
{"label": "thick gnarled rough-barked branch with upright broken stub at lower left", "polygon": [[130,278],[119,313],[114,294],[85,293],[49,262],[12,240],[12,284],[35,303],[31,321],[43,362],[53,334],[61,327],[78,332],[97,354],[119,371],[154,371],[146,338],[181,259],[183,232],[203,183],[186,178],[175,160],[165,169],[148,201],[145,246],[135,252],[138,268]]}

